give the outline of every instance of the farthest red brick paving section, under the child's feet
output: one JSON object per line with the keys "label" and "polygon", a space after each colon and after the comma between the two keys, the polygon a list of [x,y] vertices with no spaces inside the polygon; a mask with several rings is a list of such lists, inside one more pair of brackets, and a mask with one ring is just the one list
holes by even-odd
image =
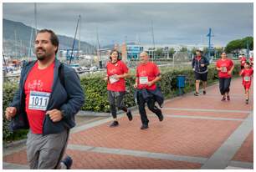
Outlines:
{"label": "farthest red brick paving section, under the child's feet", "polygon": [[[233,79],[230,86],[231,101],[220,101],[222,96],[219,94],[218,84],[207,88],[207,94],[192,96],[185,95],[183,99],[176,99],[164,104],[169,108],[184,109],[226,109],[226,110],[253,110],[253,83],[250,90],[249,104],[245,104],[244,90],[242,79]],[[213,95],[212,95],[213,94]]]}

